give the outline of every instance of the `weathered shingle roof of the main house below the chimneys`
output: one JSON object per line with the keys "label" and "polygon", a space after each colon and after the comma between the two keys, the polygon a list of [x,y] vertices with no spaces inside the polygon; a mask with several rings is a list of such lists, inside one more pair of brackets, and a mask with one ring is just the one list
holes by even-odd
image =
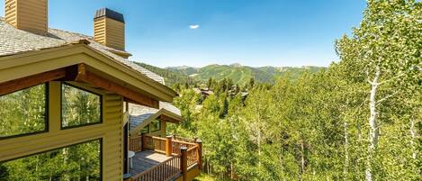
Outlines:
{"label": "weathered shingle roof of the main house below the chimneys", "polygon": [[57,29],[49,29],[49,33],[47,35],[39,35],[18,30],[9,23],[5,23],[3,18],[0,18],[0,57],[23,51],[60,47],[83,39],[90,41],[88,46],[94,48],[94,50],[98,50],[101,53],[111,57],[112,59],[121,61],[126,66],[133,68],[139,71],[141,74],[164,85],[163,77],[158,76],[146,68],[140,67],[128,59],[123,59],[120,56],[112,53],[111,51],[124,51],[115,50],[97,43],[91,36]]}

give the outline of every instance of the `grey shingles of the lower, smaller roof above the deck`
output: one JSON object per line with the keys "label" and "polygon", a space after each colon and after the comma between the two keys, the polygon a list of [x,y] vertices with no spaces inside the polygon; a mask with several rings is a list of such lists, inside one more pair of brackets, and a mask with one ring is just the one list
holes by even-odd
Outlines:
{"label": "grey shingles of the lower, smaller roof above the deck", "polygon": [[180,110],[175,107],[175,105],[166,103],[166,102],[159,102],[159,109],[151,108],[148,106],[143,106],[139,104],[129,104],[129,122],[130,122],[130,130],[134,130],[138,127],[141,123],[145,122],[151,116],[154,116],[158,113],[161,109],[165,109],[171,113],[175,113],[176,115],[181,116]]}

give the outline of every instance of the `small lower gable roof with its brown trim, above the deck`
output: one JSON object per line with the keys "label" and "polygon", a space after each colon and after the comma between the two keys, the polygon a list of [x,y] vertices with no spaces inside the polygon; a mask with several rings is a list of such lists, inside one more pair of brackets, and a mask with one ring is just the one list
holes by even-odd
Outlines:
{"label": "small lower gable roof with its brown trim, above the deck", "polygon": [[166,102],[159,102],[159,109],[139,104],[129,104],[129,114],[130,132],[139,131],[160,115],[166,115],[174,122],[183,121],[180,110],[173,104]]}

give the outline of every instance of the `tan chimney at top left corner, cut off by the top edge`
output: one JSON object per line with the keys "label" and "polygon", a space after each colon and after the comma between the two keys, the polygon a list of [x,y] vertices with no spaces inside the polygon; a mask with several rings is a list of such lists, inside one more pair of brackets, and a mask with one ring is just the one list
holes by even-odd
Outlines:
{"label": "tan chimney at top left corner, cut off by the top edge", "polygon": [[48,0],[4,0],[4,18],[19,30],[47,34]]}

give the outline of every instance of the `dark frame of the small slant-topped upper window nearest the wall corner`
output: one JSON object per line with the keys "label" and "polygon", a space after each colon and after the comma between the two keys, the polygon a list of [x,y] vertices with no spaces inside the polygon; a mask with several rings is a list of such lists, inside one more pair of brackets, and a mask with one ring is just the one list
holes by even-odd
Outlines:
{"label": "dark frame of the small slant-topped upper window nearest the wall corner", "polygon": [[[89,122],[85,124],[79,124],[79,125],[72,125],[72,126],[63,126],[63,86],[71,86],[73,88],[98,95],[100,97],[100,122]],[[67,129],[73,129],[73,128],[79,128],[84,126],[91,126],[95,124],[102,124],[103,123],[103,95],[100,93],[95,93],[94,91],[87,90],[83,87],[76,86],[67,82],[60,82],[60,130],[67,130]]]}

